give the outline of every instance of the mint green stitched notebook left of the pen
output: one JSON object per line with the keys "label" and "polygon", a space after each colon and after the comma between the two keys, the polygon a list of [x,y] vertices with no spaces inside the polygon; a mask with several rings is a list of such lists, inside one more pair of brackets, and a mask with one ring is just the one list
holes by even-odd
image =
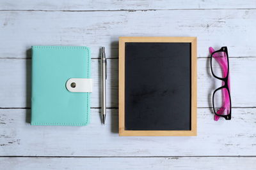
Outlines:
{"label": "mint green stitched notebook left of the pen", "polygon": [[86,46],[32,46],[31,125],[89,123],[90,60]]}

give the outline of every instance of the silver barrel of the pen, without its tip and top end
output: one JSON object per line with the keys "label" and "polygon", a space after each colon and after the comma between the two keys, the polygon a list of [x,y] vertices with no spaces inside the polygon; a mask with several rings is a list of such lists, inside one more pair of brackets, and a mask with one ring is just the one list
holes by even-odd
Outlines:
{"label": "silver barrel of the pen, without its tip and top end", "polygon": [[102,115],[106,115],[106,57],[101,59],[101,109]]}

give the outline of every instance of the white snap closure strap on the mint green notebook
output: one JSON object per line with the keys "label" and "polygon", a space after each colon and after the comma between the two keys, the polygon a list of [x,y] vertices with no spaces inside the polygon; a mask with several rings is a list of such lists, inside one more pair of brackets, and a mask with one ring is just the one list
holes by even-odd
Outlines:
{"label": "white snap closure strap on the mint green notebook", "polygon": [[92,78],[70,78],[66,87],[70,92],[92,92]]}

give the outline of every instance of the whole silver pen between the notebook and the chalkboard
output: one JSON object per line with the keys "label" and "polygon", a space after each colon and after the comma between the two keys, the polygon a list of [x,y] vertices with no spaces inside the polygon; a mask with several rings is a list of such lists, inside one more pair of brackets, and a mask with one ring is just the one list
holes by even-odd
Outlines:
{"label": "whole silver pen between the notebook and the chalkboard", "polygon": [[107,59],[105,54],[105,47],[101,48],[101,115],[102,123],[106,120],[106,79],[107,79]]}

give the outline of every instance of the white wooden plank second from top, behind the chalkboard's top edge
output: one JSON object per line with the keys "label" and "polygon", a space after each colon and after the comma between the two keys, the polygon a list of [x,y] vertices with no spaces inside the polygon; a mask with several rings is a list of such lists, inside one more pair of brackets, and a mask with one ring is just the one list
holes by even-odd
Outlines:
{"label": "white wooden plank second from top, behind the chalkboard's top edge", "polygon": [[94,58],[106,46],[116,58],[119,36],[197,36],[198,57],[209,46],[256,57],[255,17],[256,10],[1,11],[0,58],[31,57],[31,45],[90,46]]}

